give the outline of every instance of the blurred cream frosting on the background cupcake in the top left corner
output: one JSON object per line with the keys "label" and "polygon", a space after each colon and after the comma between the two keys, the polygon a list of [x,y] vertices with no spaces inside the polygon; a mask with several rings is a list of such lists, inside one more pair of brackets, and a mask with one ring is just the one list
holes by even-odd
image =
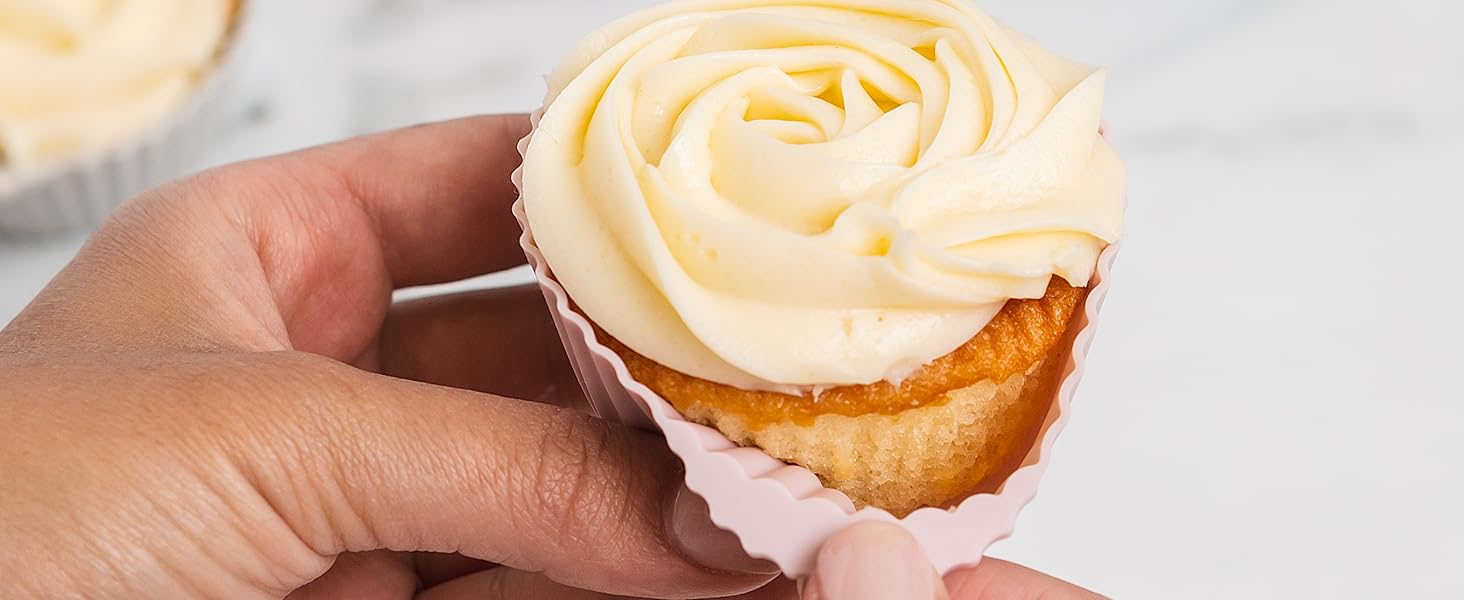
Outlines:
{"label": "blurred cream frosting on the background cupcake in the top left corner", "polygon": [[0,0],[0,167],[157,123],[211,64],[231,15],[231,0]]}

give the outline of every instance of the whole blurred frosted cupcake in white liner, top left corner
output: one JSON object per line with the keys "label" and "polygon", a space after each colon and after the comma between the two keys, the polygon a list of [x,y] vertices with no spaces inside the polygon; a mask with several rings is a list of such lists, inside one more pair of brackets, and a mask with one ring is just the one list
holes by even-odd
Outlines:
{"label": "whole blurred frosted cupcake in white liner, top left corner", "polygon": [[180,174],[243,1],[0,1],[0,231],[94,225]]}

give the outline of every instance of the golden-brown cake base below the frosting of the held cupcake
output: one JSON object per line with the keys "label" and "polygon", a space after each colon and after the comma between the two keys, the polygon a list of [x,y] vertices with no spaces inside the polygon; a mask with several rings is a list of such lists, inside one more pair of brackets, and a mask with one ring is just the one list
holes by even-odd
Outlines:
{"label": "golden-brown cake base below the frosting of the held cupcake", "polygon": [[1072,348],[1086,288],[1053,281],[897,385],[793,397],[675,372],[597,331],[631,376],[687,419],[799,464],[861,506],[903,517],[996,492],[1032,448]]}

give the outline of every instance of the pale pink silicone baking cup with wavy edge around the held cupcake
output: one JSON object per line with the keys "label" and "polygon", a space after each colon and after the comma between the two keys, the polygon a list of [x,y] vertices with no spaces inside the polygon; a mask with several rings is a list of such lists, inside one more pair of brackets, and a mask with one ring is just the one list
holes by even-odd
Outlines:
{"label": "pale pink silicone baking cup with wavy edge around the held cupcake", "polygon": [[[534,129],[542,114],[542,110],[533,114]],[[531,136],[520,142],[520,154],[527,149]],[[523,189],[523,168],[514,173],[514,184]],[[738,446],[716,429],[685,420],[665,398],[632,379],[621,357],[594,338],[590,322],[569,307],[569,296],[555,281],[534,244],[523,198],[514,202],[512,211],[524,228],[520,243],[529,265],[596,414],[660,430],[666,445],[687,467],[687,487],[710,506],[712,521],[735,533],[748,555],[777,563],[783,574],[793,578],[813,571],[814,556],[829,536],[858,521],[889,521],[903,527],[919,540],[941,574],[975,565],[993,543],[1012,534],[1017,514],[1037,496],[1037,483],[1047,471],[1053,443],[1067,421],[1069,404],[1092,345],[1098,310],[1108,294],[1110,271],[1118,250],[1113,244],[1098,259],[1098,275],[1078,316],[1078,337],[1053,398],[1053,410],[1022,467],[996,493],[974,495],[952,509],[921,508],[905,518],[895,518],[878,508],[856,511],[848,496],[824,487],[807,468],[779,461],[757,448]]]}

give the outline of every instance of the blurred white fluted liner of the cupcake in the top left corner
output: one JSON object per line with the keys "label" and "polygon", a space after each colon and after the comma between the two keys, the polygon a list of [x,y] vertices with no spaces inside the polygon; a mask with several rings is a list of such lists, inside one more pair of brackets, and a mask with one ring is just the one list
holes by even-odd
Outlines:
{"label": "blurred white fluted liner of the cupcake in the top left corner", "polygon": [[28,171],[0,168],[0,240],[88,230],[129,198],[187,173],[225,117],[250,38],[252,0],[240,0],[228,37],[196,89],[171,116],[122,145]]}

